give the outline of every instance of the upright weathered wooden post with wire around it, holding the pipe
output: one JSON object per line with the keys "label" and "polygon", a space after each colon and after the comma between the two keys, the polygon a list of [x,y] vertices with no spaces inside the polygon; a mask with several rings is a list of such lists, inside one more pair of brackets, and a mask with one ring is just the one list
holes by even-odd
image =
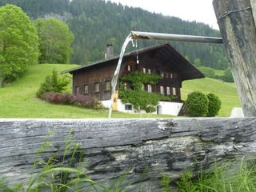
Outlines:
{"label": "upright weathered wooden post with wire around it, holding the pipe", "polygon": [[256,116],[255,0],[214,0],[213,4],[244,114]]}

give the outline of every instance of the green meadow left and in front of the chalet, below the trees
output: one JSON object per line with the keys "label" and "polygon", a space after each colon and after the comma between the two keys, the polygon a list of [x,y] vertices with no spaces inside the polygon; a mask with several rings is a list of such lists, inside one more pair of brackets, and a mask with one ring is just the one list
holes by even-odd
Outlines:
{"label": "green meadow left and in front of the chalet, below the trees", "polygon": [[[74,65],[41,64],[30,69],[10,86],[0,89],[0,118],[106,118],[107,110],[88,110],[78,106],[53,105],[35,97],[46,75],[54,68],[67,70]],[[71,84],[70,84],[71,85]],[[71,86],[67,91],[71,91]],[[114,112],[114,118],[140,118],[139,114]],[[143,118],[159,117],[142,114]],[[161,115],[162,118],[170,117]]]}

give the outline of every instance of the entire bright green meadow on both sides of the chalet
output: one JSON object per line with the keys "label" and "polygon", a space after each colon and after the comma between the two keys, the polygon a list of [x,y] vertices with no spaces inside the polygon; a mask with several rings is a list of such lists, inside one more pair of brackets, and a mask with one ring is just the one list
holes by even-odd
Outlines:
{"label": "entire bright green meadow on both sides of the chalet", "polygon": [[[0,89],[0,118],[106,118],[106,110],[87,110],[77,106],[53,105],[35,97],[38,86],[46,75],[54,68],[58,71],[67,70],[74,65],[43,64],[31,66],[30,69],[10,86]],[[222,99],[220,116],[229,116],[234,106],[239,106],[234,84],[219,82],[206,78],[183,83],[182,96],[194,90],[213,92]],[[71,87],[69,90],[71,91]],[[114,112],[114,118],[139,118],[139,114],[123,114]],[[142,117],[170,117],[144,114]]]}

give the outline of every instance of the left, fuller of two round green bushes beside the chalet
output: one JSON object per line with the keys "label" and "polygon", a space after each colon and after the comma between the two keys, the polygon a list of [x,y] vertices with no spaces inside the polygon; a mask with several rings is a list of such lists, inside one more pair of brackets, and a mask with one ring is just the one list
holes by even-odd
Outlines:
{"label": "left, fuller of two round green bushes beside the chalet", "polygon": [[208,114],[208,98],[200,91],[188,95],[186,105],[190,117],[204,117]]}

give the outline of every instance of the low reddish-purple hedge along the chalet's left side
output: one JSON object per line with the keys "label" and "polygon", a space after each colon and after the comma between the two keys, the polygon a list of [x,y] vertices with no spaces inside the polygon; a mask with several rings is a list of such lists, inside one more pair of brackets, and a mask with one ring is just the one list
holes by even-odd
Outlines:
{"label": "low reddish-purple hedge along the chalet's left side", "polygon": [[86,108],[102,109],[102,103],[95,98],[85,95],[61,94],[61,93],[45,93],[42,99],[46,102],[64,105],[76,105]]}

